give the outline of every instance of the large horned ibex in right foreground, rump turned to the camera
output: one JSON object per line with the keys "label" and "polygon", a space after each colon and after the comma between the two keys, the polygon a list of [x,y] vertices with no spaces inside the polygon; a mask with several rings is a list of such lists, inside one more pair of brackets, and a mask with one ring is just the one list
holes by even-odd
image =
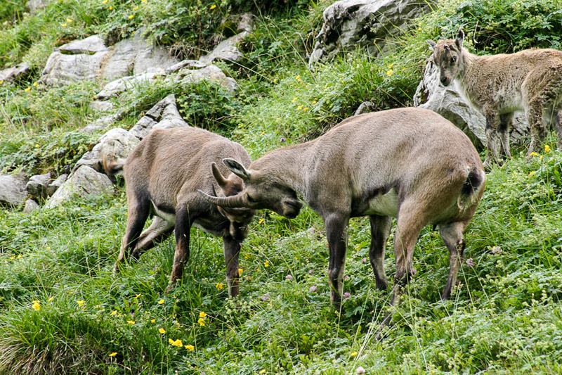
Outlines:
{"label": "large horned ibex in right foreground, rump turned to the camera", "polygon": [[386,289],[384,249],[391,217],[394,241],[394,305],[414,274],[412,255],[426,224],[437,224],[450,253],[442,298],[449,298],[464,250],[462,233],[484,191],[486,176],[469,138],[431,110],[401,108],[351,117],[318,139],[263,155],[246,169],[223,160],[244,180],[237,196],[207,201],[223,208],[268,208],[296,217],[302,203],[324,219],[329,245],[330,298],[339,307],[343,292],[350,217],[368,215],[370,262],[377,288]]}

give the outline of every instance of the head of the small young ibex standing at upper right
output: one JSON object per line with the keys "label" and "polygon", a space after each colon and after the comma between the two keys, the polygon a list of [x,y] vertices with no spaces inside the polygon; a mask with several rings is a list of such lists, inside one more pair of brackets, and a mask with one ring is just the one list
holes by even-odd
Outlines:
{"label": "head of the small young ibex standing at upper right", "polygon": [[464,32],[459,30],[455,40],[446,39],[439,43],[428,40],[430,48],[433,50],[433,61],[439,67],[440,82],[447,87],[455,78],[459,76],[462,66],[462,42]]}

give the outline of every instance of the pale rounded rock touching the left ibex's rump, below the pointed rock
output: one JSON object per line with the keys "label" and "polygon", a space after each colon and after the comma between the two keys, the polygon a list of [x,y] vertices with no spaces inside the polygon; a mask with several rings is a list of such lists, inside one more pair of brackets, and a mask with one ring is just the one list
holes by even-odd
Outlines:
{"label": "pale rounded rock touching the left ibex's rump, below the pointed rock", "polygon": [[96,172],[105,172],[103,165],[105,158],[110,158],[110,160],[126,158],[139,141],[140,139],[125,129],[115,127],[103,134],[98,144],[78,160],[73,170],[77,171],[77,169],[87,165]]}

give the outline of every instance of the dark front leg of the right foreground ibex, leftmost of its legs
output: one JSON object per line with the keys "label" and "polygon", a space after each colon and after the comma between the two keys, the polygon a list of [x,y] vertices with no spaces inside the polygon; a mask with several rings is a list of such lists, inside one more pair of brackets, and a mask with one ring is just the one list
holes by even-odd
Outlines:
{"label": "dark front leg of the right foreground ibex, leftmost of its legs", "polygon": [[348,215],[329,214],[324,219],[329,247],[328,279],[330,300],[336,310],[341,307],[344,294],[344,269],[346,266]]}

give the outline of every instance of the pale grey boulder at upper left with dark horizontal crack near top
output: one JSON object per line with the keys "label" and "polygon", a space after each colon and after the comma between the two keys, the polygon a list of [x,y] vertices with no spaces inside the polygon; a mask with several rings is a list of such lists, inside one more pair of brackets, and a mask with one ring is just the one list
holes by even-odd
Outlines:
{"label": "pale grey boulder at upper left with dark horizontal crack near top", "polygon": [[101,62],[107,53],[98,35],[60,46],[48,57],[41,82],[53,86],[93,80],[100,74]]}

